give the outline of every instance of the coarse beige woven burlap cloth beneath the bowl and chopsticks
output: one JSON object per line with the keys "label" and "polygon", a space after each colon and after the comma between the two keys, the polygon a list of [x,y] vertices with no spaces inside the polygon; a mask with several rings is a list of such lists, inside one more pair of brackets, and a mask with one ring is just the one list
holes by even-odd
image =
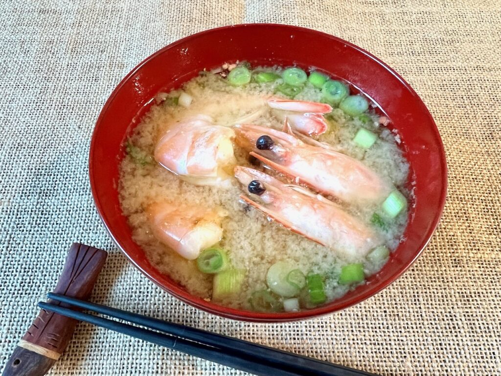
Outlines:
{"label": "coarse beige woven burlap cloth beneath the bowl and chopsticks", "polygon": [[[386,375],[501,373],[501,3],[498,0],[8,0],[0,5],[0,367],[73,241],[110,256],[93,300]],[[91,198],[88,148],[120,79],[166,44],[238,23],[351,41],[414,87],[449,166],[441,225],[377,296],[330,317],[249,324],[187,306],[120,254]],[[53,375],[243,374],[89,325]]]}

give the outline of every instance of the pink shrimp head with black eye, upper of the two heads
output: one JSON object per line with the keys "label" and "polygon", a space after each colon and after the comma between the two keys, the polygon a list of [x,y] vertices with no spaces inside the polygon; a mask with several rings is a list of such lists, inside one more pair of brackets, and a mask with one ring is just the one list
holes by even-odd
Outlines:
{"label": "pink shrimp head with black eye, upper of the two heads", "polygon": [[[380,204],[392,184],[362,162],[322,146],[306,144],[292,134],[259,125],[236,125],[236,142],[263,163],[349,204]],[[265,137],[263,137],[265,136]],[[260,148],[256,143],[260,141]],[[264,140],[268,142],[263,142]],[[317,143],[321,145],[320,143]]]}

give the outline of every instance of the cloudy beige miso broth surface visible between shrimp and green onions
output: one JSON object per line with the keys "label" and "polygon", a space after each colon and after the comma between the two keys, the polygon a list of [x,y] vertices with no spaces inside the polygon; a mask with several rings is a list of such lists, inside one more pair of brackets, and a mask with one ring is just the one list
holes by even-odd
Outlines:
{"label": "cloudy beige miso broth surface visible between shrimp and green onions", "polygon": [[[280,68],[277,69],[280,73]],[[227,213],[222,221],[222,248],[228,251],[231,264],[246,270],[242,291],[227,301],[220,302],[235,308],[249,308],[250,294],[266,289],[266,273],[277,261],[292,261],[306,275],[309,272],[327,276],[326,294],[329,300],[336,299],[348,291],[347,286],[339,286],[339,275],[344,261],[336,257],[333,250],[294,234],[276,222],[270,222],[265,215],[254,208],[242,204],[241,193],[236,179],[228,190],[210,186],[196,186],[180,180],[153,158],[156,142],[165,130],[177,122],[198,114],[212,117],[214,124],[231,126],[249,114],[258,112],[255,124],[281,129],[283,123],[275,118],[266,106],[265,99],[274,95],[275,87],[281,80],[269,84],[249,83],[244,87],[233,87],[216,74],[196,77],[183,86],[183,91],[192,98],[188,108],[176,105],[172,98],[179,91],[161,93],[158,104],[154,105],[141,123],[133,130],[129,139],[129,155],[120,165],[120,202],[124,215],[132,227],[133,239],[145,251],[150,262],[162,273],[171,276],[190,293],[206,300],[211,297],[212,275],[198,271],[196,263],[188,261],[167,249],[151,234],[145,209],[154,202],[170,201],[208,208],[222,208]],[[319,101],[319,91],[308,84],[295,99]],[[395,143],[394,135],[388,129],[380,128],[380,138],[365,151],[352,142],[361,123],[350,120],[341,110],[333,111],[329,117],[331,129],[319,140],[332,144],[337,150],[362,160],[381,176],[389,178],[395,186],[401,187],[408,173],[408,164]],[[376,129],[376,128],[374,128]],[[381,130],[382,129],[382,130]],[[234,146],[238,164],[251,165],[247,153]],[[139,155],[139,157],[138,157]],[[270,173],[269,170],[267,170]],[[362,218],[370,225],[370,218],[377,210],[374,207],[345,209]],[[382,232],[390,249],[401,240],[406,215],[400,215],[387,232]],[[364,262],[360,260],[360,262]],[[366,274],[377,270],[366,266]]]}

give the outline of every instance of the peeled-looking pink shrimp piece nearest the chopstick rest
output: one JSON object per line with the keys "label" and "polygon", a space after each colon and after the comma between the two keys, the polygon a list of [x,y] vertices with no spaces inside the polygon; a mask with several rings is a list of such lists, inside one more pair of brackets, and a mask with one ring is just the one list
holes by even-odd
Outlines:
{"label": "peeled-looking pink shrimp piece nearest the chopstick rest", "polygon": [[222,238],[220,214],[212,210],[162,202],[150,205],[146,213],[155,238],[188,260]]}

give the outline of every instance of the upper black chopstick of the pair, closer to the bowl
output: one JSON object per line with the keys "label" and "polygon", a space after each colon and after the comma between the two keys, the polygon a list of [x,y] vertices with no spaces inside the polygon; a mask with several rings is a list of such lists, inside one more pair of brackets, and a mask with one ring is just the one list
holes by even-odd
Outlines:
{"label": "upper black chopstick of the pair, closer to the bowl", "polygon": [[247,342],[221,334],[211,333],[201,329],[195,329],[189,326],[175,324],[116,308],[82,301],[65,295],[49,293],[48,297],[53,300],[58,300],[111,317],[127,320],[138,325],[160,330],[188,340],[208,344],[210,346],[220,348],[226,353],[245,357],[247,359],[253,359],[256,362],[279,366],[282,370],[288,369],[300,374],[315,374],[319,376],[374,376],[373,373],[293,354],[287,351],[278,350],[272,347]]}

